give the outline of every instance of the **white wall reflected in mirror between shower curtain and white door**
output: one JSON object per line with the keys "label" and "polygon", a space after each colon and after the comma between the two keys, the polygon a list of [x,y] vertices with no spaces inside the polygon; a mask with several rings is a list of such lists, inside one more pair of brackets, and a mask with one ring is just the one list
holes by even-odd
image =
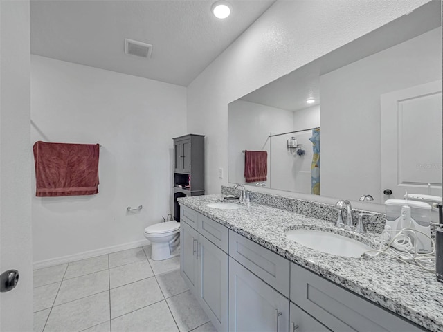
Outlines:
{"label": "white wall reflected in mirror between shower curtain and white door", "polygon": [[323,195],[388,198],[380,180],[380,95],[441,80],[441,45],[436,28],[320,76]]}

